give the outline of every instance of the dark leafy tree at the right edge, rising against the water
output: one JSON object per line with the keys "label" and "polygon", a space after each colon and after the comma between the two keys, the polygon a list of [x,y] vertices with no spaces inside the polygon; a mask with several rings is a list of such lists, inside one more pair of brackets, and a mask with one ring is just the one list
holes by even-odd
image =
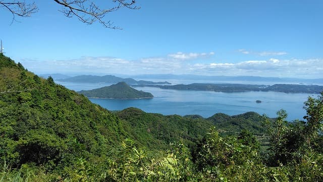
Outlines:
{"label": "dark leafy tree at the right edge, rising against the water", "polygon": [[310,155],[317,152],[313,149],[321,137],[323,121],[323,93],[317,99],[308,97],[304,103],[307,115],[306,121],[296,120],[287,122],[287,113],[284,110],[277,112],[277,119],[271,123],[266,118],[267,131],[270,134],[269,163],[271,165],[287,165],[290,162],[306,161]]}

